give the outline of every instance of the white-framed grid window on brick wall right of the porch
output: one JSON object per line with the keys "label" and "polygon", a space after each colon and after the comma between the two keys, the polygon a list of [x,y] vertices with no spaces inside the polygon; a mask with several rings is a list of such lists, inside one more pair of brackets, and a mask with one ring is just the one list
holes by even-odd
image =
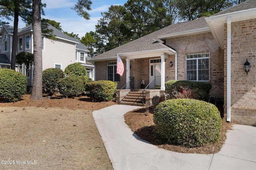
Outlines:
{"label": "white-framed grid window on brick wall right of the porch", "polygon": [[186,55],[186,80],[209,81],[209,53]]}

